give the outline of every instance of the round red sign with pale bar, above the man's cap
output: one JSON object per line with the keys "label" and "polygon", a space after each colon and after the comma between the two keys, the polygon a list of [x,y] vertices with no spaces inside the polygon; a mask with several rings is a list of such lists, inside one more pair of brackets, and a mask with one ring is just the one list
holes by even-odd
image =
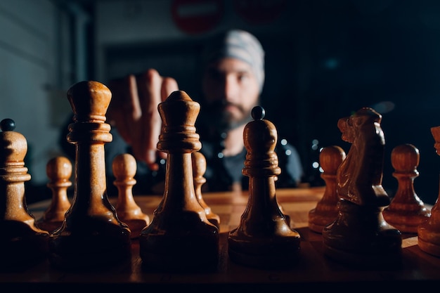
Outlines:
{"label": "round red sign with pale bar, above the man's cap", "polygon": [[172,18],[177,27],[189,34],[211,30],[224,15],[222,0],[174,0]]}

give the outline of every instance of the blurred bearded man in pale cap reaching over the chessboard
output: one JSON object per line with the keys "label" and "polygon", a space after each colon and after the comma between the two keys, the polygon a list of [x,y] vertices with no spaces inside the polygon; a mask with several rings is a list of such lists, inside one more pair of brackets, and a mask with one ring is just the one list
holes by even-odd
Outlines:
{"label": "blurred bearded man in pale cap reaching over the chessboard", "polygon": [[[246,189],[249,178],[241,173],[246,155],[243,130],[252,119],[252,108],[259,105],[264,50],[252,34],[231,30],[209,41],[202,61],[204,96],[197,100],[191,93],[188,95],[201,105],[195,126],[202,142],[200,152],[207,159],[207,183],[203,188]],[[150,69],[138,76],[114,80],[109,88],[112,102],[107,117],[112,124],[113,141],[105,145],[108,176],[112,158],[131,152],[138,161],[134,193],[162,193],[166,154],[156,148],[162,125],[157,105],[179,89],[176,80]],[[297,150],[278,143],[276,151],[282,170],[278,187],[295,187],[302,177]]]}

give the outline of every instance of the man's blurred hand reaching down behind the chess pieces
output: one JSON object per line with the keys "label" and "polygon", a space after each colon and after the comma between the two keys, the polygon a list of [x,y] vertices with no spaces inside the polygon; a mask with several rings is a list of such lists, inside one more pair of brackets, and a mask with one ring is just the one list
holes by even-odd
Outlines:
{"label": "man's blurred hand reaching down behind the chess pieces", "polygon": [[157,150],[162,129],[157,105],[179,90],[176,80],[161,77],[157,70],[150,69],[143,74],[112,80],[108,87],[112,91],[108,122],[131,145],[137,160],[146,162],[152,170],[157,169],[157,157],[167,155]]}

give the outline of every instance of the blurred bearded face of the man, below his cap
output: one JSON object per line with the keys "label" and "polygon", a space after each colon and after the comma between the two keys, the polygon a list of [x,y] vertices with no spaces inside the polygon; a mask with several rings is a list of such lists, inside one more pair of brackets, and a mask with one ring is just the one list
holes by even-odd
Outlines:
{"label": "blurred bearded face of the man, below his cap", "polygon": [[224,58],[207,67],[203,77],[207,111],[221,129],[234,129],[252,120],[251,111],[259,103],[259,84],[250,65]]}

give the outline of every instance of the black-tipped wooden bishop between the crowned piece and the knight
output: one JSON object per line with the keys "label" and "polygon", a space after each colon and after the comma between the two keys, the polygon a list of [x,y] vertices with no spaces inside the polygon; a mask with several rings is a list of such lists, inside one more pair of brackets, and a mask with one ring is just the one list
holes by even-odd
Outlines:
{"label": "black-tipped wooden bishop between the crowned piece and the knight", "polygon": [[276,200],[275,178],[281,173],[275,145],[276,127],[263,119],[264,109],[252,109],[245,126],[247,155],[242,174],[249,177],[249,197],[240,224],[228,235],[228,255],[236,263],[282,268],[295,263],[301,237],[290,228]]}

